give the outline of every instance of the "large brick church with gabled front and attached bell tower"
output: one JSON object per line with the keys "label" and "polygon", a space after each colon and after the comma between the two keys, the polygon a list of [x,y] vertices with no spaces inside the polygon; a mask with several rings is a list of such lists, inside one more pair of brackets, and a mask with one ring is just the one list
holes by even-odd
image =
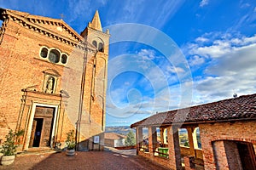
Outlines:
{"label": "large brick church with gabled front and attached bell tower", "polygon": [[63,20],[0,8],[0,140],[23,130],[20,150],[103,150],[109,31],[96,11],[84,31]]}

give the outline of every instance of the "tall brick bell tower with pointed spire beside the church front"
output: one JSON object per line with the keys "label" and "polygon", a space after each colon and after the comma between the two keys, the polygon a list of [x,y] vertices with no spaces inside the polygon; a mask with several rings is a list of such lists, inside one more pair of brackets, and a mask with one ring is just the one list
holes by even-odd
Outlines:
{"label": "tall brick bell tower with pointed spire beside the church front", "polygon": [[102,31],[98,11],[80,35],[84,37],[84,44],[95,48],[95,52],[87,54],[83,106],[85,116],[81,116],[81,122],[82,124],[84,122],[84,125],[81,124],[79,128],[80,132],[84,131],[84,133],[89,134],[89,150],[103,150],[110,35],[108,30]]}

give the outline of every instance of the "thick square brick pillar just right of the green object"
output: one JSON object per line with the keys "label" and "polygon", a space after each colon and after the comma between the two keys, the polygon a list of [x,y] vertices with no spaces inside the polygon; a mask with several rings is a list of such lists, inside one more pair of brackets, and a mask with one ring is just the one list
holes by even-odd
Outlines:
{"label": "thick square brick pillar just right of the green object", "polygon": [[169,167],[171,169],[182,169],[177,128],[175,126],[167,128]]}

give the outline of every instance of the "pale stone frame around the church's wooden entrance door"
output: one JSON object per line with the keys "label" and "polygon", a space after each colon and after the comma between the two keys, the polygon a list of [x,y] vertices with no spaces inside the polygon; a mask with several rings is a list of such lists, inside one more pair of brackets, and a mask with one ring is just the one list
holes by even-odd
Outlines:
{"label": "pale stone frame around the church's wooden entrance door", "polygon": [[33,103],[31,115],[30,115],[29,122],[28,122],[27,132],[26,132],[26,142],[25,142],[24,150],[28,150],[29,142],[30,142],[30,139],[31,139],[31,133],[32,133],[32,124],[33,124],[33,120],[34,120],[34,116],[35,116],[35,113],[36,113],[36,107],[37,106],[55,108],[55,113],[54,113],[55,117],[54,117],[53,127],[52,127],[52,131],[51,131],[51,141],[49,143],[50,147],[52,147],[51,144],[52,144],[52,142],[54,140],[55,132],[57,130],[56,118],[57,118],[57,115],[58,115],[59,106],[58,105],[48,105],[48,104]]}

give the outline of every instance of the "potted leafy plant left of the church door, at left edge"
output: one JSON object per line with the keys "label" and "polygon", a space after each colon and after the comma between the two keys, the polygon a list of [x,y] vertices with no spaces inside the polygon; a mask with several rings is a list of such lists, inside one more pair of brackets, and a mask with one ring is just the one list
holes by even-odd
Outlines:
{"label": "potted leafy plant left of the church door, at left edge", "polygon": [[2,145],[1,153],[3,153],[1,164],[10,165],[15,161],[15,154],[17,143],[20,143],[20,136],[23,135],[24,131],[20,130],[17,133],[14,133],[12,129],[9,130],[9,133],[5,136],[5,141]]}

